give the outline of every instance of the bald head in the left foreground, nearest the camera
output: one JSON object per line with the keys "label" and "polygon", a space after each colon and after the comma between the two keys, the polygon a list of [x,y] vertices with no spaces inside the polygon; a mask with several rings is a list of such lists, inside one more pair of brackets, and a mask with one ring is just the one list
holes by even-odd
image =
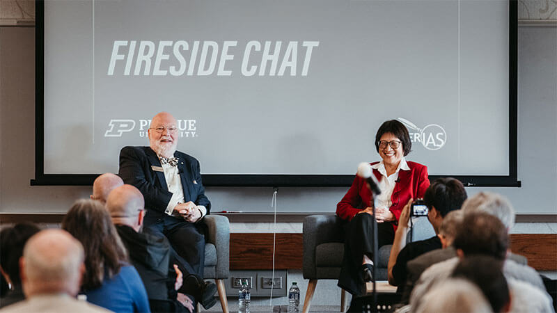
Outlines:
{"label": "bald head in the left foreground, nearest the camera", "polygon": [[27,297],[64,293],[75,296],[84,271],[81,243],[64,230],[42,230],[27,241],[21,261]]}

